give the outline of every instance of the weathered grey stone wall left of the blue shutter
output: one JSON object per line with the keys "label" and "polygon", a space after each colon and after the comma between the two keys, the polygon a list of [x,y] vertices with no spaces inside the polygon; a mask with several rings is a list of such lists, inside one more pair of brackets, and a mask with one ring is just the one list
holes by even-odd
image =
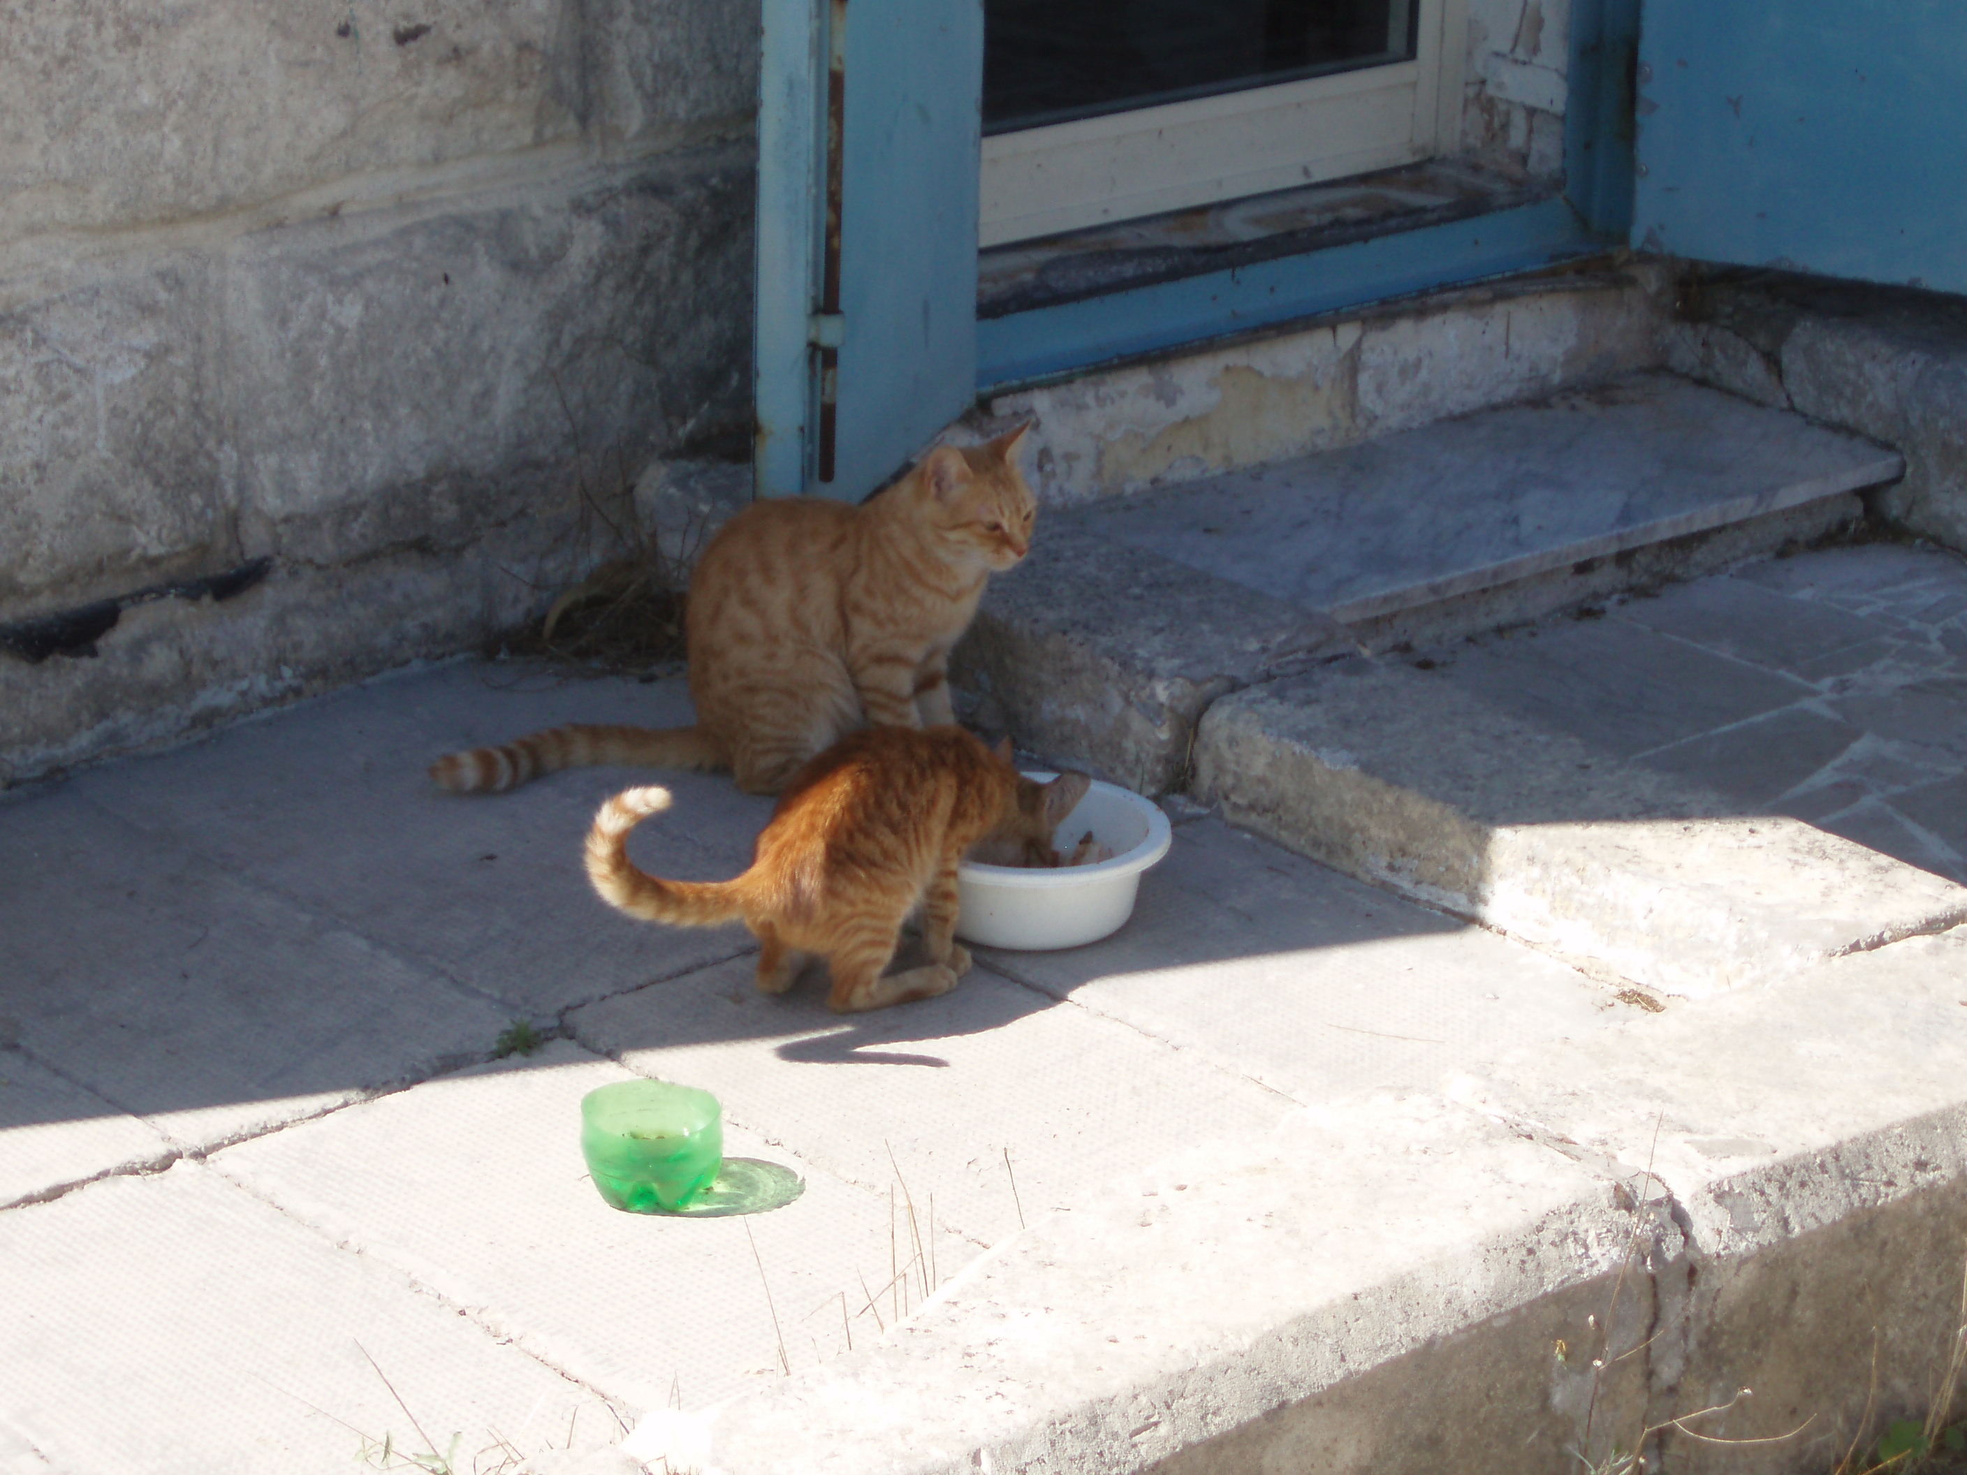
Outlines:
{"label": "weathered grey stone wall left of the blue shutter", "polygon": [[0,783],[464,647],[582,486],[744,454],[755,28],[0,0]]}

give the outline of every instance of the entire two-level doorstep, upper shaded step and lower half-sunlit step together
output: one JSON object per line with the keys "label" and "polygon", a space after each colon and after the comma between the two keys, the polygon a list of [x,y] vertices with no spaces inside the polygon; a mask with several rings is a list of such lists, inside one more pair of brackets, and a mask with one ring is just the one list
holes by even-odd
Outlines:
{"label": "entire two-level doorstep, upper shaded step and lower half-sunlit step together", "polygon": [[[1967,918],[1967,568],[1794,564],[1859,604],[1782,574],[1619,588],[1849,519],[1898,468],[1633,376],[1052,517],[958,671],[1039,751],[1603,979],[1723,993]],[[1387,645],[1564,604],[1589,618]]]}

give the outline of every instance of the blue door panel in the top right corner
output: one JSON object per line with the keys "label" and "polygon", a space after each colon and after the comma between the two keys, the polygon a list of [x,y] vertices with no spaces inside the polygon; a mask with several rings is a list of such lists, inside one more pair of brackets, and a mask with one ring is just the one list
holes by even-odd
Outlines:
{"label": "blue door panel in the top right corner", "polygon": [[1633,244],[1967,291],[1967,6],[1644,0]]}

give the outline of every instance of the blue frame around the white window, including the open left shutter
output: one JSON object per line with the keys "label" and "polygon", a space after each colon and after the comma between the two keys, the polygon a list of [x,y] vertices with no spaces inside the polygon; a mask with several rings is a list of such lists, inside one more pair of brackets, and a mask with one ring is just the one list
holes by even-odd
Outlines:
{"label": "blue frame around the white window, including the open left shutter", "polygon": [[[1572,4],[1558,199],[978,321],[982,0],[763,0],[759,492],[860,498],[980,391],[1625,244],[1639,2]],[[830,175],[840,45],[844,151]],[[826,291],[830,183],[838,301]],[[820,482],[828,368],[836,466]]]}

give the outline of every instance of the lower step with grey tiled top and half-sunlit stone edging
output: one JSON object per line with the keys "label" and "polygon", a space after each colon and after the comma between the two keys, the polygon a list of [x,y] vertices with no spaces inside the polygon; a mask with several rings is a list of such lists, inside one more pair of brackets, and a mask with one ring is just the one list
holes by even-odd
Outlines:
{"label": "lower step with grey tiled top and half-sunlit stone edging", "polygon": [[1680,995],[1967,918],[1967,564],[1835,549],[1216,702],[1196,795]]}

